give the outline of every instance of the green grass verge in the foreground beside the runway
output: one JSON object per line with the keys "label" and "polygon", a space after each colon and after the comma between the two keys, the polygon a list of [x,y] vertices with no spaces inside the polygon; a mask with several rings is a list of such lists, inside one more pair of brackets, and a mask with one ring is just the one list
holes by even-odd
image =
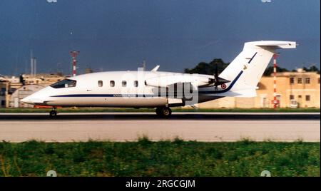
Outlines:
{"label": "green grass verge in the foreground beside the runway", "polygon": [[320,176],[320,143],[0,143],[0,176]]}

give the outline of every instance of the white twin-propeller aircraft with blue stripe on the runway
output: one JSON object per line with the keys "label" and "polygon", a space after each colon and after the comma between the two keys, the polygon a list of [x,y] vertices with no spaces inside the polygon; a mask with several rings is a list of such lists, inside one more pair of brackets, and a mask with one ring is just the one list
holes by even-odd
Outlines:
{"label": "white twin-propeller aircraft with blue stripe on the runway", "polygon": [[34,105],[156,108],[163,117],[170,107],[223,97],[255,97],[255,89],[276,49],[295,48],[294,41],[254,41],[213,76],[152,71],[89,73],[58,81],[21,101]]}

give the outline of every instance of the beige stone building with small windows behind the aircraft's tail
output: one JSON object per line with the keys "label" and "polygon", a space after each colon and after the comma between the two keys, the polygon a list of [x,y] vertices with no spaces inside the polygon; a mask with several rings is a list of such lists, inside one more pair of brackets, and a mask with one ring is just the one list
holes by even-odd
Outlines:
{"label": "beige stone building with small windows behind the aircraft's tail", "polygon": [[[277,73],[280,108],[320,108],[320,74],[317,72]],[[199,108],[272,108],[273,77],[263,76],[255,98],[220,98],[198,104]]]}

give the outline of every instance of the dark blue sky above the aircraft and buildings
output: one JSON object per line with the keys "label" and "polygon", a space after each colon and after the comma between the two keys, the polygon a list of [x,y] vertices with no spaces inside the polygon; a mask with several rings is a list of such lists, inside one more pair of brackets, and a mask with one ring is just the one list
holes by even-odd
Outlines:
{"label": "dark blue sky above the aircraft and buildings", "polygon": [[[232,61],[245,41],[297,41],[280,51],[281,67],[320,68],[320,0],[1,0],[0,74],[79,70],[183,71],[213,58]],[[58,64],[59,63],[59,64]]]}

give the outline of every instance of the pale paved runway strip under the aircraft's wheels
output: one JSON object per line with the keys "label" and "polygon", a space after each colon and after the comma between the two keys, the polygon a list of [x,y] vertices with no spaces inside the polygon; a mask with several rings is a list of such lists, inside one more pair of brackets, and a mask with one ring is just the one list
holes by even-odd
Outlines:
{"label": "pale paved runway strip under the aircraft's wheels", "polygon": [[92,140],[151,140],[204,142],[302,140],[320,142],[320,113],[0,113],[0,140],[72,142]]}

